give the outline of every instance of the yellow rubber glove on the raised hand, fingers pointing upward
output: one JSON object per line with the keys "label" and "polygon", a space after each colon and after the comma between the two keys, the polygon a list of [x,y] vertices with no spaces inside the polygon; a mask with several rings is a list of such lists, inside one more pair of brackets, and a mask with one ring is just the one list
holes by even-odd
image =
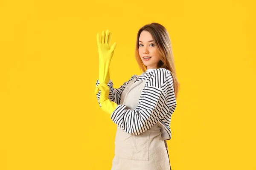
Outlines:
{"label": "yellow rubber glove on the raised hand, fingers pointing upward", "polygon": [[110,46],[112,33],[107,30],[102,31],[101,39],[99,38],[99,33],[97,34],[97,44],[99,52],[99,82],[108,84],[110,80],[109,76],[109,66],[111,59],[116,48],[116,42]]}

